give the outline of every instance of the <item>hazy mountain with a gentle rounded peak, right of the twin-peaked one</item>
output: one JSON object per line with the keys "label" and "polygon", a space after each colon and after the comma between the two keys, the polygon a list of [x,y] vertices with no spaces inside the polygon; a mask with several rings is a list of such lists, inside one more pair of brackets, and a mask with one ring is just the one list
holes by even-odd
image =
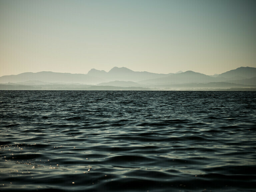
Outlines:
{"label": "hazy mountain with a gentle rounded peak, right of the twin-peaked one", "polygon": [[140,84],[167,84],[167,83],[207,83],[216,81],[215,77],[210,77],[202,73],[194,71],[186,71],[183,73],[171,74],[168,77],[149,79],[139,81]]}

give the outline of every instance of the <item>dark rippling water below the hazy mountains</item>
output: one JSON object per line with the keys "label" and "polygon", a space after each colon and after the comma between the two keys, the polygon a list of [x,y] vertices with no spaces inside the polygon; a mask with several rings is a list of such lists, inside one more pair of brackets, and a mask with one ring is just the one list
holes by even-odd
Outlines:
{"label": "dark rippling water below the hazy mountains", "polygon": [[256,92],[0,98],[1,191],[256,191]]}

